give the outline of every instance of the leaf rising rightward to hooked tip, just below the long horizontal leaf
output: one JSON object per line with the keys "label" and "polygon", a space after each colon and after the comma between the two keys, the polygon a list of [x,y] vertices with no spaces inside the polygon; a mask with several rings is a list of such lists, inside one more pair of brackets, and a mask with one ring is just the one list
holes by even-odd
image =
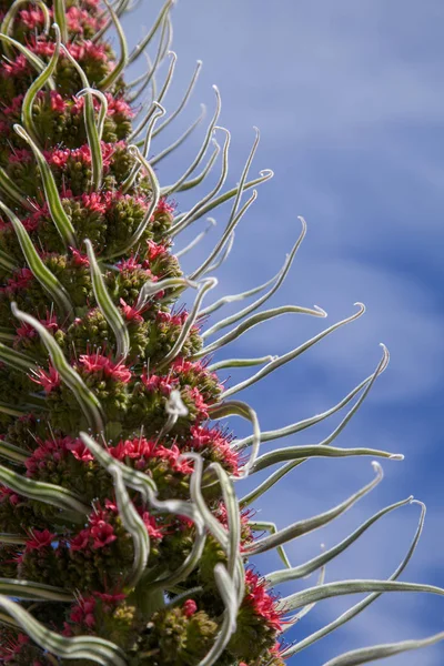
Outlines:
{"label": "leaf rising rightward to hooked tip, just below the long horizontal leaf", "polygon": [[351,506],[353,506],[353,504],[355,504],[359,500],[361,500],[361,497],[363,497],[364,495],[366,495],[367,493],[373,491],[373,488],[382,481],[383,473],[382,473],[381,465],[379,465],[379,463],[375,463],[375,462],[373,462],[372,464],[373,464],[373,468],[376,472],[375,478],[370,484],[367,484],[366,486],[361,488],[357,493],[354,493],[351,497],[345,500],[345,502],[342,502],[334,508],[331,508],[330,511],[326,511],[325,513],[319,514],[317,516],[314,516],[313,518],[307,518],[305,521],[297,521],[297,523],[293,523],[293,525],[290,525],[289,527],[281,529],[280,532],[278,532],[278,534],[274,534],[272,536],[265,536],[264,538],[256,541],[253,545],[248,546],[245,552],[251,555],[258,555],[259,553],[265,553],[266,551],[275,548],[276,546],[280,546],[281,544],[285,544],[289,541],[292,541],[293,538],[297,538],[299,536],[302,536],[303,534],[307,534],[309,532],[319,529],[319,527],[322,527],[323,525],[326,525],[327,523],[331,523],[332,521],[337,518],[337,516],[340,516],[344,512],[346,512]]}

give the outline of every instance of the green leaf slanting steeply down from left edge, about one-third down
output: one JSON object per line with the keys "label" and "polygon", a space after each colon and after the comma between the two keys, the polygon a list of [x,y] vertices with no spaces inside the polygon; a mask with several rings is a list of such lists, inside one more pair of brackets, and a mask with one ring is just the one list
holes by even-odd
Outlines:
{"label": "green leaf slanting steeply down from left edge, about one-third down", "polygon": [[24,259],[27,260],[28,266],[32,271],[36,280],[40,282],[52,301],[58,305],[58,307],[60,307],[61,314],[69,315],[72,312],[73,306],[67,290],[40,259],[40,255],[37,252],[29,233],[27,232],[24,225],[20,222],[19,218],[1,201],[0,210],[2,210],[11,221],[19,240],[20,248],[24,254]]}

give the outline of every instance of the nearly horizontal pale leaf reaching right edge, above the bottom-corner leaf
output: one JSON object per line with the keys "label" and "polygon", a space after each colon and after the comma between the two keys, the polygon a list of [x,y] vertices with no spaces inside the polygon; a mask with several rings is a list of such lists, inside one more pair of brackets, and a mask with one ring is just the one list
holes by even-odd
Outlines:
{"label": "nearly horizontal pale leaf reaching right edge, above the bottom-corner leaf", "polygon": [[283,597],[278,602],[278,607],[284,613],[290,613],[295,608],[305,606],[305,604],[365,592],[426,592],[444,596],[444,589],[435,585],[400,583],[397,581],[340,581],[339,583],[326,583],[319,587],[310,587],[309,589]]}

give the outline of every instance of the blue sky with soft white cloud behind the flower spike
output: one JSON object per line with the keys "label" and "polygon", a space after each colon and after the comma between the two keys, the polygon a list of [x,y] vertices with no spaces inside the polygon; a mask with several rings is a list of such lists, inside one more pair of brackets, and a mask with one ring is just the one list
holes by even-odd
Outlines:
{"label": "blue sky with soft white cloud behind the flower spike", "polygon": [[[150,26],[158,7],[145,2],[127,17],[131,40],[143,34],[142,24]],[[186,119],[199,114],[199,102],[212,109],[211,85],[216,83],[223,100],[220,123],[233,138],[230,183],[239,179],[253,125],[262,139],[252,173],[264,168],[275,172],[242,221],[214,293],[235,293],[272,276],[299,234],[297,215],[303,215],[306,240],[271,305],[317,304],[329,313],[327,320],[285,315],[246,334],[224,354],[284,353],[351,314],[355,301],[367,306],[357,322],[256,384],[243,400],[258,411],[264,430],[279,427],[336,403],[377,364],[380,342],[391,351],[389,370],[336,445],[403,452],[405,461],[385,461],[385,478],[372,495],[329,528],[291,544],[292,562],[313,556],[321,543],[332,546],[385,504],[413,494],[426,502],[428,512],[403,579],[443,586],[444,6],[434,0],[180,0],[173,20],[179,61],[168,109],[174,108],[195,60],[204,65],[194,100],[168,137],[178,137]],[[159,139],[154,153],[168,137]],[[161,162],[162,184],[181,173],[201,137],[198,130]],[[198,195],[178,196],[179,209],[186,210]],[[226,212],[215,214],[219,230]],[[194,233],[203,226],[203,221],[196,223]],[[199,265],[218,233],[184,258],[184,268]],[[189,238],[178,240],[176,248]],[[229,385],[241,376],[233,371]],[[236,433],[246,432],[232,423]],[[330,427],[323,424],[279,445],[315,443],[336,424],[333,420]],[[310,462],[266,495],[259,515],[283,527],[325,511],[371,477],[367,458]],[[327,579],[387,577],[405,553],[417,515],[417,507],[410,506],[384,518],[332,563]],[[258,563],[264,573],[275,565],[270,557]],[[355,601],[321,602],[292,638],[306,636]],[[345,649],[424,637],[442,630],[443,620],[442,598],[386,595],[290,664],[321,666]],[[442,654],[441,645],[380,663],[442,666]]]}

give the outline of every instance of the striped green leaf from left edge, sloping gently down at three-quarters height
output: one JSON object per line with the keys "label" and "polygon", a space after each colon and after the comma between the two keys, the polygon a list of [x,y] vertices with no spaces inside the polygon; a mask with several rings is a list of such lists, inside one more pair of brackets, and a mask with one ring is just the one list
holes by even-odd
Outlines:
{"label": "striped green leaf from left edge, sloping gently down at three-quarters height", "polygon": [[81,498],[71,493],[71,491],[52,483],[27,478],[8,467],[3,467],[3,465],[0,465],[0,482],[8,488],[19,493],[19,495],[23,495],[30,500],[51,504],[62,509],[77,511],[84,515],[91,511],[91,507],[83,504]]}

